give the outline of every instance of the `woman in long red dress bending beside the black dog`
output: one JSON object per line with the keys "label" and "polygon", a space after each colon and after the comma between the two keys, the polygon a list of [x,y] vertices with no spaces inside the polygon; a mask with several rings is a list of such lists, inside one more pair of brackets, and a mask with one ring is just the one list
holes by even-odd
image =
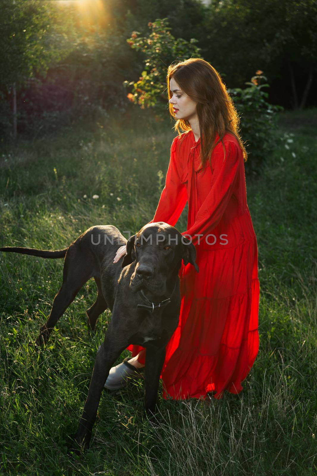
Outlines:
{"label": "woman in long red dress bending beside the black dog", "polygon": [[[175,226],[188,200],[188,225],[199,273],[179,270],[179,323],[166,348],[163,398],[238,394],[258,354],[258,247],[247,205],[239,119],[218,72],[201,59],[168,68],[175,130],[166,185],[154,218]],[[190,235],[190,237],[188,236]],[[118,249],[114,262],[126,253]],[[140,376],[146,349],[112,367],[105,387]],[[112,386],[112,387],[111,387]]]}

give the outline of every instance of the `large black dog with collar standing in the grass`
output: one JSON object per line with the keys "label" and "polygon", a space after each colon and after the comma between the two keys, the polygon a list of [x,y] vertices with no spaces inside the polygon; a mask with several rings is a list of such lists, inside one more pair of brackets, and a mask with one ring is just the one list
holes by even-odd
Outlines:
{"label": "large black dog with collar standing in the grass", "polygon": [[[113,263],[113,259],[118,248],[125,244],[127,254],[119,267],[119,262]],[[112,312],[105,340],[97,352],[76,443],[89,446],[109,370],[129,344],[147,349],[145,409],[148,417],[154,417],[165,348],[178,325],[178,271],[182,259],[184,265],[191,263],[198,272],[194,245],[176,228],[156,222],[141,228],[128,242],[118,228],[106,225],[89,228],[69,248],[59,251],[15,247],[0,248],[0,251],[43,258],[65,256],[63,283],[47,323],[40,328],[38,344],[47,341],[59,317],[89,278],[94,277],[98,287],[96,302],[87,311],[90,327],[94,329],[98,316],[107,307]]]}

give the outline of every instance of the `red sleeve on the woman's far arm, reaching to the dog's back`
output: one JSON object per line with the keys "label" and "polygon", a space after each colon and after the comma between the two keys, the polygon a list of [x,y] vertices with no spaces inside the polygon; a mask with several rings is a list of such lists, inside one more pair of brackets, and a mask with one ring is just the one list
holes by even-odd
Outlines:
{"label": "red sleeve on the woman's far arm, reaching to the dog's back", "polygon": [[174,138],[171,149],[168,171],[166,174],[165,187],[162,190],[159,198],[158,207],[156,209],[154,218],[149,221],[165,221],[168,225],[175,227],[181,212],[183,211],[187,202],[187,190],[185,184],[181,183],[177,171],[176,159],[176,140]]}

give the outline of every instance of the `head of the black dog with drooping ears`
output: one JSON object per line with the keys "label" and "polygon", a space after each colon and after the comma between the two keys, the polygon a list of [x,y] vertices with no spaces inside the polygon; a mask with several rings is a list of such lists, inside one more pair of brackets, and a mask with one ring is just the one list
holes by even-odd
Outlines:
{"label": "head of the black dog with drooping ears", "polygon": [[190,240],[176,228],[158,221],[145,225],[129,238],[121,267],[136,262],[131,276],[131,291],[146,288],[152,294],[163,295],[167,280],[176,277],[182,260],[184,265],[191,263],[199,272],[195,259],[196,248]]}

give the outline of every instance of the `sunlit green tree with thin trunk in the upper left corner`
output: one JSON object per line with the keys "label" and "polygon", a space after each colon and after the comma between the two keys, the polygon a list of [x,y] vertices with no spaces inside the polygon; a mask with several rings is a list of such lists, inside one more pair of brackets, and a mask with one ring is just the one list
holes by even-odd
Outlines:
{"label": "sunlit green tree with thin trunk in the upper left corner", "polygon": [[38,0],[1,0],[0,85],[12,93],[13,137],[17,137],[17,91],[28,79],[45,77],[50,65],[68,54],[71,21],[51,3]]}

